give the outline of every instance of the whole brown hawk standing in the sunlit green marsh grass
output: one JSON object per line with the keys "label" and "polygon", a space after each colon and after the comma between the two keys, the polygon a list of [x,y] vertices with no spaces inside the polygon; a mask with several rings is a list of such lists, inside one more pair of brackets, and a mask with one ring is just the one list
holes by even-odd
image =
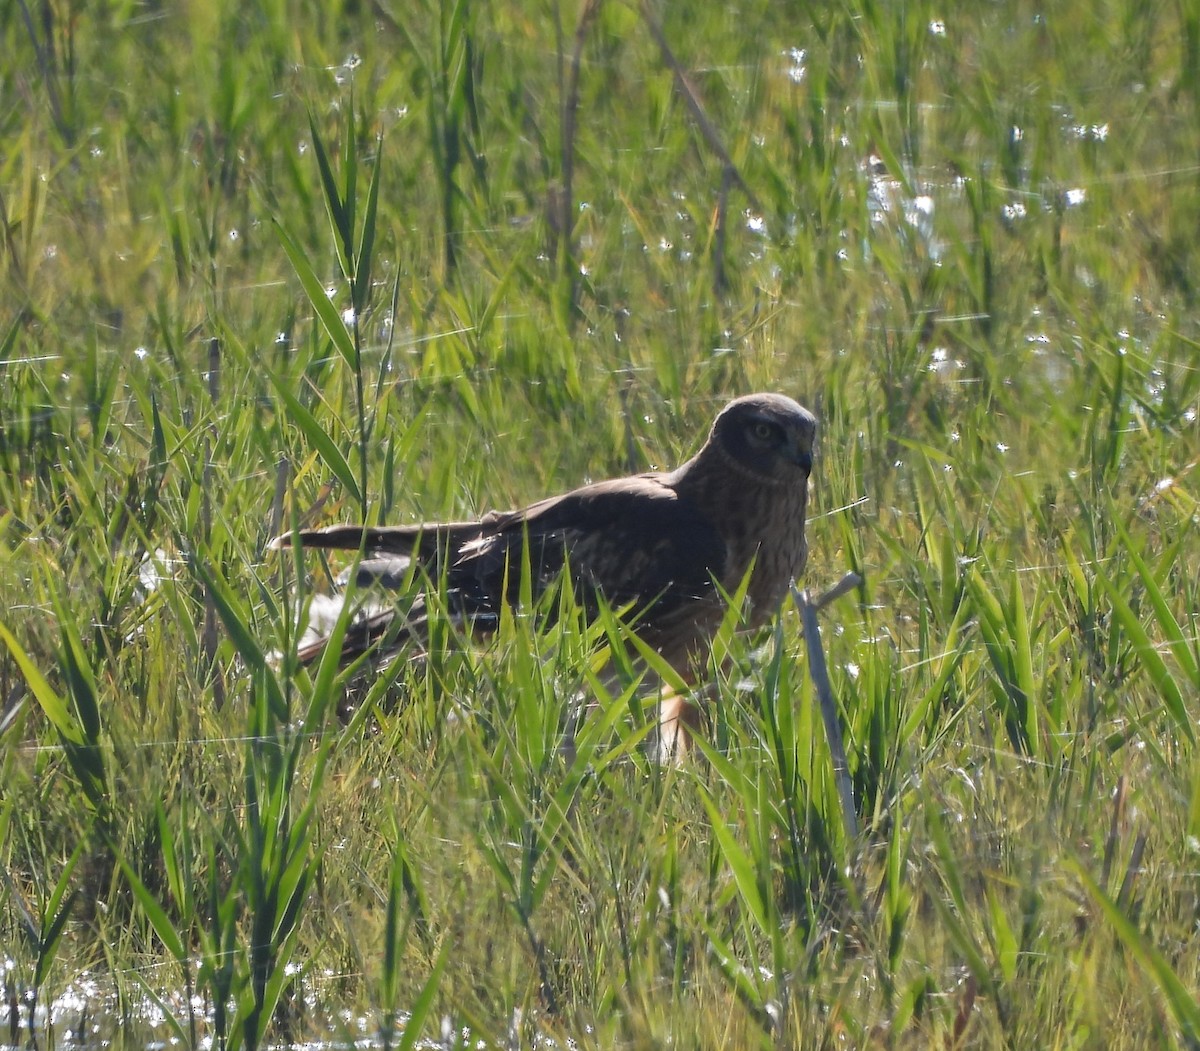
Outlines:
{"label": "whole brown hawk standing in the sunlit green marsh grass", "polygon": [[[403,587],[419,569],[425,581],[444,584],[450,613],[478,635],[496,627],[505,603],[517,605],[526,559],[535,600],[569,566],[584,609],[595,608],[598,595],[625,609],[638,636],[690,681],[725,596],[748,572],[755,626],[778,611],[804,569],[816,428],[812,413],[790,397],[748,395],[720,412],[700,451],[672,472],[594,482],[472,522],[300,529],[271,547],[362,549],[360,585]],[[343,575],[340,583],[347,582]],[[340,606],[337,597],[314,600],[301,662],[320,656]],[[342,660],[380,644],[420,645],[425,626],[420,597],[407,612],[372,600],[347,631]],[[660,753],[682,753],[696,717],[684,698],[668,695],[659,713]]]}

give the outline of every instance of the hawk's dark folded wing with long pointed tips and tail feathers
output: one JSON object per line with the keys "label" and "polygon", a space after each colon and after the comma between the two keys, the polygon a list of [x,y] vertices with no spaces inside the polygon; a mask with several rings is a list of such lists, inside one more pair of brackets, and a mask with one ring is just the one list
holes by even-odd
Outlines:
{"label": "hawk's dark folded wing with long pointed tips and tail feathers", "polygon": [[[401,527],[335,526],[293,536],[306,547],[364,549],[359,584],[396,588],[413,577],[444,582],[450,612],[478,632],[494,627],[505,602],[515,605],[526,557],[534,597],[570,564],[576,596],[594,611],[598,596],[614,607],[631,607],[652,643],[671,645],[703,637],[710,611],[719,609],[713,577],[725,573],[726,547],[714,526],[659,475],[638,475],[584,486],[518,511],[492,512],[478,522]],[[424,635],[424,603],[406,623],[372,600],[343,644],[353,657],[380,638],[397,644]],[[689,614],[706,624],[689,624]],[[659,637],[661,636],[661,638]],[[301,660],[319,656],[324,639],[301,647]],[[668,657],[670,659],[670,657]]]}

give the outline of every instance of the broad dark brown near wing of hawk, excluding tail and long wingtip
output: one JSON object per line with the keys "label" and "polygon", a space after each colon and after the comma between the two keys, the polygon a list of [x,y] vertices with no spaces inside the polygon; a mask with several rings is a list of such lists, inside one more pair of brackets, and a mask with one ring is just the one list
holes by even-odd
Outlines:
{"label": "broad dark brown near wing of hawk, excluding tail and long wingtip", "polygon": [[480,526],[446,566],[468,613],[494,612],[505,594],[516,600],[526,545],[535,595],[569,561],[586,607],[599,593],[653,617],[710,596],[726,560],[712,522],[658,475],[596,482]]}

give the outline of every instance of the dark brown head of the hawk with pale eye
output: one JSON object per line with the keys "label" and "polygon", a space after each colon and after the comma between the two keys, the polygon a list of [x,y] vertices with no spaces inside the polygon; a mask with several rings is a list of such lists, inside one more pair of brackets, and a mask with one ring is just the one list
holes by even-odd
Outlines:
{"label": "dark brown head of the hawk with pale eye", "polygon": [[756,481],[796,485],[812,470],[816,432],[817,418],[790,397],[746,395],[721,409],[708,446]]}

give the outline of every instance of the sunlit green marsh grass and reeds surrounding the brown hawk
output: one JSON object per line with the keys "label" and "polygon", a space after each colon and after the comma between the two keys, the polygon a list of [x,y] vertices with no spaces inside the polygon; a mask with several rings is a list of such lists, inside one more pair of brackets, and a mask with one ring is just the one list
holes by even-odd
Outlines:
{"label": "sunlit green marsh grass and reeds surrounding the brown hawk", "polygon": [[[72,989],[221,1046],[1200,1044],[1193,4],[29,2],[0,1039]],[[289,522],[673,466],[750,390],[822,418],[809,581],[865,576],[857,841],[791,609],[679,770],[635,691],[559,755],[570,618],[348,726],[264,662]]]}

